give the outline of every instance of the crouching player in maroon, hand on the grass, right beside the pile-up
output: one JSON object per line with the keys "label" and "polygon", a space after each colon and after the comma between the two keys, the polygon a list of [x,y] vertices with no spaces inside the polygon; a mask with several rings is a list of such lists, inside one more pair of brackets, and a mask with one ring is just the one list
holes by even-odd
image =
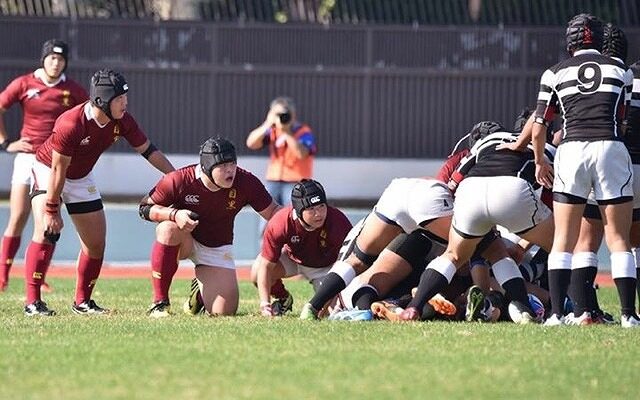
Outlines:
{"label": "crouching player in maroon, hand on the grass, right beside the pile-up", "polygon": [[[351,222],[342,211],[327,205],[327,195],[317,181],[303,179],[296,183],[291,204],[267,223],[262,249],[251,268],[260,312],[267,317],[291,311],[293,297],[282,278],[300,274],[315,288],[338,259],[338,251],[351,229]],[[273,303],[271,296],[275,298]]]}

